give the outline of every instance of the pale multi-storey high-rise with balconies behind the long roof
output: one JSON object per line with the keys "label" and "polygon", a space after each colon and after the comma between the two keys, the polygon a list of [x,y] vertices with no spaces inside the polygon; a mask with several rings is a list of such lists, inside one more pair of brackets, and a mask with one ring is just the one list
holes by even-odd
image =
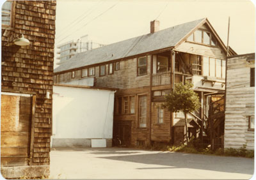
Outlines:
{"label": "pale multi-storey high-rise with balconies behind the long roof", "polygon": [[92,50],[98,47],[102,47],[101,43],[95,43],[88,38],[88,35],[82,36],[77,40],[67,41],[58,45],[57,59],[60,60],[57,64],[63,63],[63,61],[70,59],[72,56],[79,52],[84,52],[86,50]]}

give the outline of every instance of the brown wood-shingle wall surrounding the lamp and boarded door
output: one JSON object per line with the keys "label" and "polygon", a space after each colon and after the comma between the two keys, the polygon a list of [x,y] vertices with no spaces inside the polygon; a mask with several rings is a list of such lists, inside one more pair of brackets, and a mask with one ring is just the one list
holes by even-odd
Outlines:
{"label": "brown wood-shingle wall surrounding the lamp and boarded door", "polygon": [[[15,2],[14,26],[2,28],[1,91],[36,93],[33,165],[49,165],[56,1]],[[13,40],[24,34],[29,46]]]}

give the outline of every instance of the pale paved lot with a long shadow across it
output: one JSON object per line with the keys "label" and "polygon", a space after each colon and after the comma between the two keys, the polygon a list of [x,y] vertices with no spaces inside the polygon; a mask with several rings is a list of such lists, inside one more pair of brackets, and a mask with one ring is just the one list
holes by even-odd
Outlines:
{"label": "pale paved lot with a long shadow across it", "polygon": [[51,150],[51,179],[250,179],[253,159],[127,148]]}

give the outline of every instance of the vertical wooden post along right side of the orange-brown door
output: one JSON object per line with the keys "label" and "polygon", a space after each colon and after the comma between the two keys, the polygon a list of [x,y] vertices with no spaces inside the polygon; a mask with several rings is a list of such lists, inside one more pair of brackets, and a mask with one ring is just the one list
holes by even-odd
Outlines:
{"label": "vertical wooden post along right side of the orange-brown door", "polygon": [[31,111],[31,139],[29,152],[29,165],[33,165],[33,150],[34,150],[34,135],[35,135],[35,112],[36,112],[36,95],[32,96],[32,111]]}

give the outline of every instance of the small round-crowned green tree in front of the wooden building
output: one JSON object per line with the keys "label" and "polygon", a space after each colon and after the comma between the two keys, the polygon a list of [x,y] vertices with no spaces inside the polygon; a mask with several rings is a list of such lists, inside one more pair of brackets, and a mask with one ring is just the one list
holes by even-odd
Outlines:
{"label": "small round-crowned green tree in front of the wooden building", "polygon": [[180,110],[185,116],[186,126],[186,140],[188,140],[188,113],[194,112],[200,108],[200,102],[197,94],[191,89],[193,84],[186,81],[183,85],[182,82],[175,84],[175,89],[172,93],[165,96],[163,108],[170,110],[170,112],[179,112]]}

